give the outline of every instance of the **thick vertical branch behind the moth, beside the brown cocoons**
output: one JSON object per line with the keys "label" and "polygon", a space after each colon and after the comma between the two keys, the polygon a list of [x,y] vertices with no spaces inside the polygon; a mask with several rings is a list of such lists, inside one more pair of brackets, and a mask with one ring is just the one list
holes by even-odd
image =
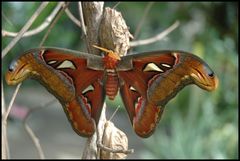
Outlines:
{"label": "thick vertical branch behind the moth, beside the brown cocoons", "polygon": [[[80,14],[80,20],[82,25],[82,30],[84,33],[85,41],[87,44],[87,50],[91,54],[100,54],[99,50],[93,49],[93,44],[98,44],[98,29],[102,17],[103,12],[103,5],[104,2],[79,2],[79,14]],[[86,26],[85,26],[86,23]],[[86,30],[86,28],[87,30]],[[99,118],[98,127],[100,127],[103,123],[105,118],[105,111],[106,105],[103,105],[102,114]],[[95,121],[93,121],[95,123]],[[104,126],[102,126],[103,129]],[[95,129],[97,129],[95,127]],[[97,131],[95,130],[95,133],[92,137],[87,139],[86,144],[84,145],[84,151],[82,153],[82,159],[97,159],[98,158],[98,150],[97,150]]]}

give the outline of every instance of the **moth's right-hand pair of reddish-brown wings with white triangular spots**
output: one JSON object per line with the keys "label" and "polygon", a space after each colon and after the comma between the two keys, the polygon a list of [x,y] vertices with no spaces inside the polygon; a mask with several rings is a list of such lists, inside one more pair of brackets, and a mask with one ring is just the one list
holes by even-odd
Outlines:
{"label": "moth's right-hand pair of reddish-brown wings with white triangular spots", "polygon": [[132,59],[132,70],[118,72],[123,82],[120,92],[141,137],[153,133],[165,104],[184,86],[194,83],[209,91],[217,87],[217,77],[209,66],[192,54],[160,51],[125,59]]}

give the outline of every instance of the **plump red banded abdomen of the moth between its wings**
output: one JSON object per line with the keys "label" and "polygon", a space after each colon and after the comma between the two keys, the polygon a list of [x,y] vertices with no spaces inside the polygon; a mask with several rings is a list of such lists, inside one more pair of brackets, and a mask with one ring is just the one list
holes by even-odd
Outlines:
{"label": "plump red banded abdomen of the moth between its wings", "polygon": [[115,96],[118,92],[118,75],[115,71],[107,71],[107,79],[106,79],[106,95],[110,100],[114,100]]}

